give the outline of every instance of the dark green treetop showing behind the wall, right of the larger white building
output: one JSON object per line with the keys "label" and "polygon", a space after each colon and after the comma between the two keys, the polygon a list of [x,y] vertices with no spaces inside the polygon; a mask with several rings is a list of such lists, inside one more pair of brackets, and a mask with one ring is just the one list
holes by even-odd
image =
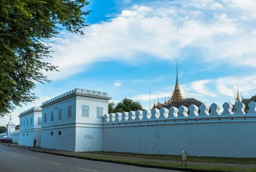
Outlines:
{"label": "dark green treetop showing behind the wall, right of the larger white building", "polygon": [[142,105],[139,102],[134,102],[132,99],[122,99],[116,107],[114,107],[114,102],[108,104],[108,113],[116,113],[116,112],[129,112],[136,110],[143,110]]}

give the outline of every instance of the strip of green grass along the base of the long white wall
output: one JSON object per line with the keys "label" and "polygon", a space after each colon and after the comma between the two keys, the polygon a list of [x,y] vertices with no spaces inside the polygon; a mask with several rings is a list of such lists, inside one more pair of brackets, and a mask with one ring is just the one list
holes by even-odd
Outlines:
{"label": "strip of green grass along the base of the long white wall", "polygon": [[[86,153],[132,157],[132,158],[155,159],[155,160],[181,161],[181,155],[151,155],[151,154],[136,154],[136,153],[124,153],[124,152],[86,152]],[[187,161],[188,162],[205,162],[205,163],[226,163],[226,164],[256,164],[256,158],[222,158],[222,157],[188,156]]]}

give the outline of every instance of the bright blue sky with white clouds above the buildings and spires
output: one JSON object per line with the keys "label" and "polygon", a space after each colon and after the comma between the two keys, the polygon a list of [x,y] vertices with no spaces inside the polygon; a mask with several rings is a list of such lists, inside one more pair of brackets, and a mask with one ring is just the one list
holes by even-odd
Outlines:
{"label": "bright blue sky with white clouds above the buildings and spires", "polygon": [[[234,102],[256,92],[256,1],[254,0],[90,0],[84,8],[91,27],[84,35],[62,31],[48,59],[60,72],[44,72],[40,100],[17,107],[18,115],[74,88],[125,97],[149,108],[171,96],[178,62],[184,98],[210,105]],[[6,125],[9,117],[0,120]]]}

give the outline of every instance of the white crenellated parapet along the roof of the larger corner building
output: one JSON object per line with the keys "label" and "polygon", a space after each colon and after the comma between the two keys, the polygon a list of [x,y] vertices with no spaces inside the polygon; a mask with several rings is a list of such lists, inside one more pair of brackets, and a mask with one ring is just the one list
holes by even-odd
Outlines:
{"label": "white crenellated parapet along the roof of the larger corner building", "polygon": [[63,93],[59,96],[56,96],[52,99],[49,99],[49,100],[43,102],[42,105],[45,105],[45,104],[48,104],[48,103],[53,102],[55,100],[64,98],[64,97],[69,96],[70,94],[73,94],[73,93],[82,93],[82,94],[91,95],[91,96],[101,96],[101,97],[107,97],[108,98],[108,93],[105,93],[105,92],[76,88],[76,89],[68,91],[67,93]]}

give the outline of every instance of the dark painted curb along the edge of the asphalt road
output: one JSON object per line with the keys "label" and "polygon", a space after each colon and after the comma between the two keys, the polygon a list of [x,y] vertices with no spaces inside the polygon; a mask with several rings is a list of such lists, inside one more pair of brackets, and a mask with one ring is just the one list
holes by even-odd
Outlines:
{"label": "dark painted curb along the edge of the asphalt road", "polygon": [[35,150],[35,149],[32,149],[32,148],[30,148],[29,150],[34,151],[34,152],[47,153],[47,154],[65,156],[65,157],[70,157],[70,158],[79,158],[79,159],[90,160],[90,161],[99,161],[99,162],[107,162],[107,163],[114,163],[114,164],[139,166],[139,167],[153,168],[153,169],[169,169],[169,170],[177,170],[177,171],[183,171],[183,172],[241,172],[241,171],[227,171],[227,170],[214,170],[214,169],[192,169],[192,168],[181,168],[181,167],[173,167],[173,166],[158,166],[158,165],[149,165],[149,164],[137,164],[137,163],[130,163],[130,162],[104,160],[104,159],[97,159],[97,158],[86,158],[86,157],[79,157],[79,156],[74,156],[74,155],[65,155],[65,154],[61,154],[61,153]]}

